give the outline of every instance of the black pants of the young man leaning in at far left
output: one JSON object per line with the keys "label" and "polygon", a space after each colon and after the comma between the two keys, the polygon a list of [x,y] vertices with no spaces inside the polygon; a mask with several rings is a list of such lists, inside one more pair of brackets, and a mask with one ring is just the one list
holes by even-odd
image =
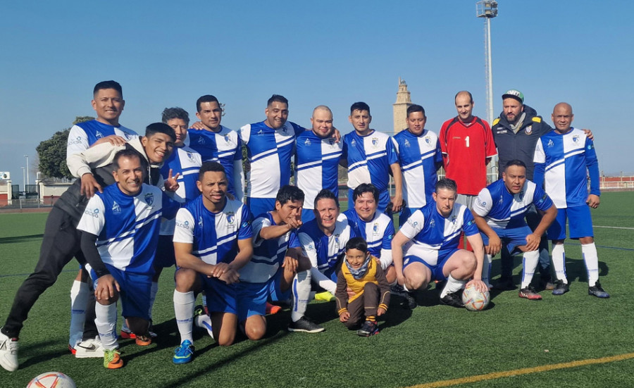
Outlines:
{"label": "black pants of the young man leaning in at far left", "polygon": [[[66,211],[54,207],[49,213],[49,218],[46,219],[39,261],[33,273],[27,277],[15,294],[11,312],[2,327],[4,334],[8,337],[20,336],[24,321],[28,318],[29,311],[39,296],[55,284],[58,275],[73,257],[77,258],[81,265],[85,265],[86,260],[80,248],[80,239],[81,232],[77,231],[73,217]],[[87,307],[88,327],[85,328],[85,332],[92,330],[96,333],[96,328],[89,327],[94,327],[94,298],[91,299],[92,307]],[[90,319],[91,309],[93,319]]]}

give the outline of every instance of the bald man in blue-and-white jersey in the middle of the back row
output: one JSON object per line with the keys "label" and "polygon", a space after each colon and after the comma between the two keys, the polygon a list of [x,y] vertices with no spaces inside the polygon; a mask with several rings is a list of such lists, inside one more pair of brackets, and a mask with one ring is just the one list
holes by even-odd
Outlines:
{"label": "bald man in blue-and-white jersey in the middle of the back row", "polygon": [[342,143],[332,137],[332,111],[325,105],[313,109],[311,131],[299,134],[295,153],[295,184],[305,194],[302,222],[315,218],[313,202],[321,189],[339,196],[338,165],[342,156]]}

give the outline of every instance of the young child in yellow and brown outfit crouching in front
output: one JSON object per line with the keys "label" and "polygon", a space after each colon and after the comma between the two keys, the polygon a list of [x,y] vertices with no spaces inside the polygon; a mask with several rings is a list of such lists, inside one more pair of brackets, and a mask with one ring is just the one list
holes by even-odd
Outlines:
{"label": "young child in yellow and brown outfit crouching in front", "polygon": [[[355,293],[348,296],[347,288]],[[376,317],[385,314],[390,304],[390,284],[376,258],[368,252],[368,244],[361,237],[353,237],[346,244],[346,256],[337,276],[337,313],[349,329],[366,321],[356,331],[361,337],[378,333]]]}

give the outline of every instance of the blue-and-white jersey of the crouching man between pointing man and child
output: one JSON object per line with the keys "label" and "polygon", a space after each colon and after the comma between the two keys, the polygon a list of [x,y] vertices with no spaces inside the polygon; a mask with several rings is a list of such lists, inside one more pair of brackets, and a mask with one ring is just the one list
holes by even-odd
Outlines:
{"label": "blue-and-white jersey of the crouching man between pointing man and child", "polygon": [[299,242],[302,244],[304,256],[308,256],[314,268],[330,277],[335,273],[337,258],[346,252],[346,244],[356,237],[347,220],[337,220],[335,231],[326,236],[317,220],[311,220],[299,228]]}

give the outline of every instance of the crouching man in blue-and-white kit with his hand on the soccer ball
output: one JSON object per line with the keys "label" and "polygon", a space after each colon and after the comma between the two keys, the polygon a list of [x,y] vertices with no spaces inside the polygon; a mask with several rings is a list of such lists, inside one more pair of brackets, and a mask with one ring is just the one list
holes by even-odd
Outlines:
{"label": "crouching man in blue-and-white kit with his hand on the soccer ball", "polygon": [[[471,211],[455,203],[456,189],[454,180],[436,182],[434,201],[415,211],[392,239],[392,258],[397,281],[406,290],[425,289],[432,280],[447,279],[440,303],[464,307],[460,292],[465,284],[473,283],[480,291],[488,287],[481,276],[482,238]],[[473,252],[458,249],[460,232],[466,234]]]}

